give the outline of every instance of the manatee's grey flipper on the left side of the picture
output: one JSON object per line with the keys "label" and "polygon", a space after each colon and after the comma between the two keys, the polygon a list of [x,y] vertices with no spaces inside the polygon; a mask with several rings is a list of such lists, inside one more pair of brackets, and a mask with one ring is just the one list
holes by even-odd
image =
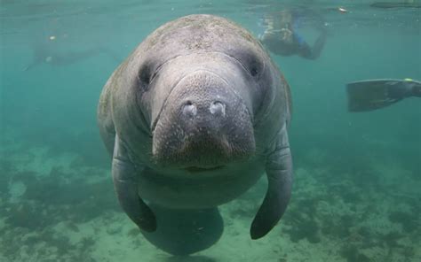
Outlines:
{"label": "manatee's grey flipper on the left side of the picture", "polygon": [[124,149],[120,139],[115,135],[112,173],[118,202],[138,227],[153,232],[156,230],[155,215],[138,195],[139,172],[128,158],[127,150]]}

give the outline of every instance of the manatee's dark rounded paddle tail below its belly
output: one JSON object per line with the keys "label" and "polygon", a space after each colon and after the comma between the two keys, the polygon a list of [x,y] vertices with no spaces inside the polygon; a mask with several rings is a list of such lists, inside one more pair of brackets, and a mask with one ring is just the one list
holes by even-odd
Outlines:
{"label": "manatee's dark rounded paddle tail below its belly", "polygon": [[141,231],[157,248],[175,256],[205,250],[218,242],[224,230],[218,208],[168,209],[149,204],[159,227],[155,232]]}

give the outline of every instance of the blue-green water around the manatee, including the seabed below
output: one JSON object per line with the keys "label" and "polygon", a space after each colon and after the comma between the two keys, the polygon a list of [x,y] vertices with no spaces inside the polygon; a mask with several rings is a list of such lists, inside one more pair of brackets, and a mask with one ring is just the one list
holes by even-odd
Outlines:
{"label": "blue-green water around the manatee, including the seabed below", "polygon": [[[211,13],[258,35],[266,12],[297,5],[322,14],[328,39],[314,61],[272,56],[293,98],[295,182],[286,214],[265,238],[250,240],[266,190],[260,181],[221,206],[226,228],[211,249],[191,258],[155,249],[116,203],[96,123],[104,83],[166,21]],[[420,8],[1,0],[0,42],[0,261],[421,260],[421,101],[350,113],[345,87],[421,80]],[[25,71],[36,50],[40,62]]]}

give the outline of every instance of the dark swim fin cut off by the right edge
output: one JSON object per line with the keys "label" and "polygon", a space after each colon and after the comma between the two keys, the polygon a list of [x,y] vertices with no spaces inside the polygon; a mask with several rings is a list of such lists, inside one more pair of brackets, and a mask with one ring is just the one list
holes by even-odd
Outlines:
{"label": "dark swim fin cut off by the right edge", "polygon": [[421,96],[421,82],[411,79],[375,79],[346,85],[349,112],[372,111],[409,96]]}

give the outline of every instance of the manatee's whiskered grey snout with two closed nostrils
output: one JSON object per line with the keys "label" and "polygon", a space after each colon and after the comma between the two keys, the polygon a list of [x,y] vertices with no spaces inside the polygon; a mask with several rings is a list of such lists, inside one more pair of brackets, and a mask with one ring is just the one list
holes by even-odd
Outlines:
{"label": "manatee's whiskered grey snout with two closed nostrils", "polygon": [[250,157],[255,141],[238,81],[206,70],[187,74],[171,90],[153,132],[156,161],[214,168]]}

